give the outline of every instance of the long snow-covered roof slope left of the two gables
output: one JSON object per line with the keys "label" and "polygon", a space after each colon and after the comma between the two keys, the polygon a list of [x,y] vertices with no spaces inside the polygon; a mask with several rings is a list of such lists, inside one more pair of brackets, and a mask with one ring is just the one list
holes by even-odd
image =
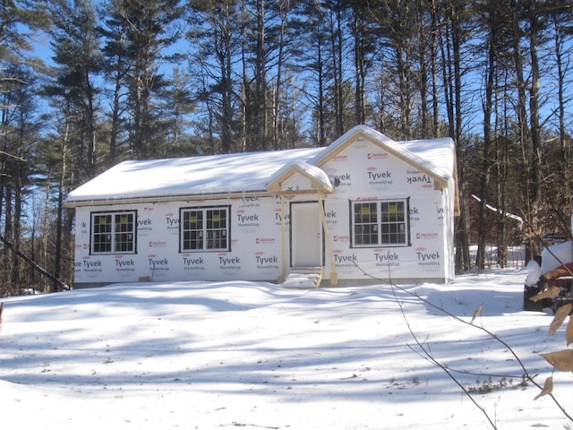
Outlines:
{"label": "long snow-covered roof slope left of the two gables", "polygon": [[312,159],[321,150],[324,148],[124,161],[73,190],[66,202],[262,192],[279,168]]}

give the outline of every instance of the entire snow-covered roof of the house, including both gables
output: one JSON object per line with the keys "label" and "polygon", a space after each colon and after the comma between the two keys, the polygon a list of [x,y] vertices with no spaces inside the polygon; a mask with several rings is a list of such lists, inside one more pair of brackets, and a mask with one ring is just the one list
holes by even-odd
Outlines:
{"label": "entire snow-covered roof of the house, including both gables", "polygon": [[359,135],[369,137],[432,176],[448,180],[454,174],[451,139],[395,142],[367,126],[357,125],[326,148],[124,161],[69,193],[66,206],[265,192],[273,178],[292,166],[302,167],[308,176],[329,185],[321,164]]}

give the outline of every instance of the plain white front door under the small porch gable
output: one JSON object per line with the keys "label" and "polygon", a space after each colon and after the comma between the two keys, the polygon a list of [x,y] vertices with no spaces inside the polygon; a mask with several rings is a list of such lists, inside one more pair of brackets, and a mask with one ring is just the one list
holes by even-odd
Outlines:
{"label": "plain white front door under the small porch gable", "polygon": [[322,266],[322,224],[319,202],[290,205],[291,266]]}

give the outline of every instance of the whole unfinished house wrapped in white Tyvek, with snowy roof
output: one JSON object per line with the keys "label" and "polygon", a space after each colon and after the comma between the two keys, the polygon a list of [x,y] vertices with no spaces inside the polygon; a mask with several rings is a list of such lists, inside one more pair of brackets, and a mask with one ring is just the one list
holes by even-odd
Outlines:
{"label": "whole unfinished house wrapped in white Tyvek, with snowy roof", "polygon": [[74,286],[447,282],[455,172],[451,139],[363,125],[325,148],[125,161],[68,196]]}

